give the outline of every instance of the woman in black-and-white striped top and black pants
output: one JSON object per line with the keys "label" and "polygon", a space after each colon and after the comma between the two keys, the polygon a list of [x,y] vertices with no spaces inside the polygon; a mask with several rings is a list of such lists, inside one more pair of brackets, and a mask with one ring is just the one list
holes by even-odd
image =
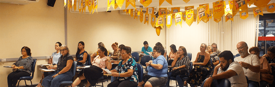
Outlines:
{"label": "woman in black-and-white striped top and black pants", "polygon": [[12,64],[12,68],[16,71],[8,75],[8,87],[15,87],[20,77],[30,76],[32,70],[32,53],[29,47],[21,48],[22,56]]}

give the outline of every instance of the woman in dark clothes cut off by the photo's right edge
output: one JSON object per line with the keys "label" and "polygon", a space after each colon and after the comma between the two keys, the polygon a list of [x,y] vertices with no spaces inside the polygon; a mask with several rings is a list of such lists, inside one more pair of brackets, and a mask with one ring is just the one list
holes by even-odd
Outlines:
{"label": "woman in dark clothes cut off by the photo's right edge", "polygon": [[[271,75],[275,76],[275,47],[268,47],[267,48],[267,53],[266,53],[266,60],[271,66]],[[273,80],[272,84],[269,84],[269,87],[275,87],[275,82]]]}

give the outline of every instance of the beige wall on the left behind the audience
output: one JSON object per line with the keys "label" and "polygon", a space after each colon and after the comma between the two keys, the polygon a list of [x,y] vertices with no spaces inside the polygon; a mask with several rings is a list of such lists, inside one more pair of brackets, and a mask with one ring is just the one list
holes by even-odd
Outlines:
{"label": "beige wall on the left behind the audience", "polygon": [[[23,46],[31,48],[32,56],[50,56],[54,44],[65,44],[63,1],[56,1],[54,7],[47,6],[47,0],[28,5],[0,3],[0,58],[18,58]],[[111,44],[118,42],[130,46],[132,51],[141,51],[146,40],[149,46],[161,42],[165,46],[165,29],[160,36],[149,26],[133,19],[130,15],[121,15],[119,11],[79,14],[67,12],[68,48],[76,53],[77,43],[85,42],[88,53],[97,51],[98,42],[103,42],[109,52]],[[0,87],[7,86],[7,75],[12,72],[15,61],[0,62]],[[38,64],[46,64],[47,59],[38,59]],[[42,74],[36,66],[32,83],[39,83]],[[45,67],[44,67],[45,68]],[[24,81],[20,82],[23,85]],[[30,84],[30,81],[27,81]]]}

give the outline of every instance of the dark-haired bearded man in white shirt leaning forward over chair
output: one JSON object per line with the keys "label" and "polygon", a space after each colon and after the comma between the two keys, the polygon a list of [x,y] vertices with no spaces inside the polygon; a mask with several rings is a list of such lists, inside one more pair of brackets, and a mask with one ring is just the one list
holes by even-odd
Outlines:
{"label": "dark-haired bearded man in white shirt leaning forward over chair", "polygon": [[[218,64],[215,69],[213,76],[204,83],[205,87],[211,87],[213,79],[228,79],[231,83],[231,87],[247,87],[246,77],[242,66],[238,62],[234,62],[234,57],[231,51],[223,51],[220,55],[221,63]],[[219,70],[219,71],[218,71]]]}

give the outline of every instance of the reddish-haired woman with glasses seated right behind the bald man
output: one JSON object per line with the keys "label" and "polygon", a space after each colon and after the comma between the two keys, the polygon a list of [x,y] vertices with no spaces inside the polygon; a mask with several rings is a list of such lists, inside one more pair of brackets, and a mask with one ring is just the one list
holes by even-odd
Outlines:
{"label": "reddish-haired woman with glasses seated right behind the bald man", "polygon": [[[258,47],[251,47],[249,48],[249,53],[254,54],[258,56],[260,59],[260,74],[269,74],[272,73],[271,67],[266,60],[265,57],[259,56],[260,55],[260,49]],[[266,87],[266,85],[270,82],[269,80],[266,80],[265,77],[260,77],[260,86],[259,87]]]}

